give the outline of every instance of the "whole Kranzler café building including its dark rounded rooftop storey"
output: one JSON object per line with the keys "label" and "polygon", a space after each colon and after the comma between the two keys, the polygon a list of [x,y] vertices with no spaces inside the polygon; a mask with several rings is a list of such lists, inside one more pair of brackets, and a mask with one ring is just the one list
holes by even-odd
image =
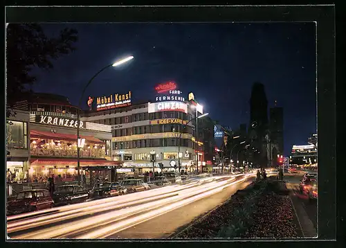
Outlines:
{"label": "whole Kranzler caf\u00e9 building including its dark rounded rooftop storey", "polygon": [[78,125],[80,174],[84,182],[89,184],[96,178],[115,179],[116,167],[121,163],[111,161],[110,125],[78,121],[77,107],[71,105],[68,98],[54,94],[34,94],[17,107],[26,109],[22,113],[27,113],[28,181],[46,181],[51,175],[57,177],[57,181],[76,180]]}

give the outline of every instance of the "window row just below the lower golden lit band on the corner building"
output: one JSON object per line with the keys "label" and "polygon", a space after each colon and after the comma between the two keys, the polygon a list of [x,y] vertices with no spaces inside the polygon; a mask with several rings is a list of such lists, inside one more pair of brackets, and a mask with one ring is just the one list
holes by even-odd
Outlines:
{"label": "window row just below the lower golden lit band on the corner building", "polygon": [[[138,139],[136,141],[112,142],[112,145],[113,145],[113,150],[179,146],[179,138]],[[181,139],[180,146],[198,150],[197,143],[194,143],[190,139]]]}

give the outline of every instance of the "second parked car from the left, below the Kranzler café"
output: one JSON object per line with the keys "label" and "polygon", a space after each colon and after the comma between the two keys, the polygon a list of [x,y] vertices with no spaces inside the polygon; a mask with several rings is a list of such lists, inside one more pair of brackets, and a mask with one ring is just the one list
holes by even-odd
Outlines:
{"label": "second parked car from the left, below the Kranzler caf\u00e9", "polygon": [[58,186],[53,193],[55,206],[84,202],[89,199],[89,192],[80,185]]}

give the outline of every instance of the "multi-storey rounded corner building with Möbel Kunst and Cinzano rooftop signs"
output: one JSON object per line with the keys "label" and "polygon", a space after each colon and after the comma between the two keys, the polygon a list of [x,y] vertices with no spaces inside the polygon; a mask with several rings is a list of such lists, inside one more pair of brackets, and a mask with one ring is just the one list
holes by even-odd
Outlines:
{"label": "multi-storey rounded corner building with M\u00f6bel Kunst and Cinzano rooftop signs", "polygon": [[[185,99],[187,94],[174,82],[156,85],[155,91],[156,97],[149,103],[133,103],[131,91],[90,96],[91,111],[85,112],[81,120],[111,125],[111,159],[122,161],[122,168],[133,168],[138,174],[160,172],[176,170],[180,161],[183,171],[197,170],[197,164],[201,171],[203,129],[195,117],[203,114],[203,107],[194,96]],[[155,154],[154,162],[151,154]]]}

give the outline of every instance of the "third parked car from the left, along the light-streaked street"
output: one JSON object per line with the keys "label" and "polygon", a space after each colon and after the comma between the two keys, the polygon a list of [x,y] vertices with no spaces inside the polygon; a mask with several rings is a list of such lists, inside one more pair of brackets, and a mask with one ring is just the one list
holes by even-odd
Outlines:
{"label": "third parked car from the left, along the light-streaked street", "polygon": [[116,195],[125,195],[127,189],[122,187],[118,182],[104,182],[93,186],[89,191],[90,198],[111,197]]}

